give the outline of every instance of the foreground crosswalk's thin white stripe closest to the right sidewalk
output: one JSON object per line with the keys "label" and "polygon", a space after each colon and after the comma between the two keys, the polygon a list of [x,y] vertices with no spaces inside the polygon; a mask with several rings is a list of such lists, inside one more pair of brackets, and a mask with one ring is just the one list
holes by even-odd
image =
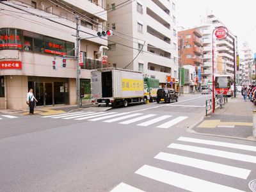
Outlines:
{"label": "foreground crosswalk's thin white stripe closest to the right sidewalk", "polygon": [[200,139],[186,138],[186,137],[180,137],[177,140],[178,141],[188,141],[188,142],[191,142],[191,143],[201,143],[201,144],[206,144],[206,145],[215,145],[215,146],[221,146],[221,147],[228,147],[228,148],[237,148],[237,149],[242,149],[242,150],[251,150],[251,151],[256,152],[256,147],[250,146],[250,145],[240,145],[240,144],[234,144],[234,143],[200,140]]}

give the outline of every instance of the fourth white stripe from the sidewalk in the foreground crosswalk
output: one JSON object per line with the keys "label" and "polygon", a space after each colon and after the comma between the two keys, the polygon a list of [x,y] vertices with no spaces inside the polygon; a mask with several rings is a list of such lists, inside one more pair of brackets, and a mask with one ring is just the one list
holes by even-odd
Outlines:
{"label": "fourth white stripe from the sidewalk in the foreground crosswalk", "polygon": [[195,177],[190,177],[187,175],[182,175],[180,173],[170,172],[168,170],[163,170],[153,166],[148,166],[147,164],[143,165],[135,173],[148,177],[150,179],[158,180],[178,188],[186,189],[188,191],[197,191],[197,192],[216,192],[216,191],[225,191],[225,192],[236,192],[240,191],[239,189],[230,188],[228,186],[223,186],[221,184],[216,184],[214,182],[209,182],[202,179],[197,179]]}

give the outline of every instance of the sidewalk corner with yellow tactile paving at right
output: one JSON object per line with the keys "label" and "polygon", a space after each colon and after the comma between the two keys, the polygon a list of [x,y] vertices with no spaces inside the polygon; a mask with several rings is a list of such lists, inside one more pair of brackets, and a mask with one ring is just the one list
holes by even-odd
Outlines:
{"label": "sidewalk corner with yellow tactile paving at right", "polygon": [[214,113],[204,115],[200,123],[188,131],[256,141],[253,138],[253,110],[256,106],[249,99],[245,102],[241,94],[236,95],[228,99],[222,109],[216,108]]}

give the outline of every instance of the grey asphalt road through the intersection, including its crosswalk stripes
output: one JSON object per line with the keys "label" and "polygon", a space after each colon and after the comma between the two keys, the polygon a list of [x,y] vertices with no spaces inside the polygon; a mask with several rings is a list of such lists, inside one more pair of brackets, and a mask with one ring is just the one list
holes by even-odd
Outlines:
{"label": "grey asphalt road through the intersection, including its crosswalk stripes", "polygon": [[102,113],[0,114],[1,191],[250,191],[255,142],[186,132],[210,98]]}

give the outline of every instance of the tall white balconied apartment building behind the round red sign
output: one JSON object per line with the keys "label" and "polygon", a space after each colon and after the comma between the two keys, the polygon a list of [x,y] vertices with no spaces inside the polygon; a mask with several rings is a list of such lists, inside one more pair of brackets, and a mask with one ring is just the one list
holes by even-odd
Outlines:
{"label": "tall white balconied apartment building behind the round red sign", "polygon": [[[203,35],[203,68],[207,68],[207,74],[202,74],[202,77],[208,81],[212,74],[212,31],[215,28],[224,26],[218,17],[216,17],[210,8],[200,15],[200,32]],[[237,37],[229,31],[227,38],[219,40],[213,36],[214,49],[214,74],[230,74],[234,75],[234,64],[236,64]],[[235,47],[235,52],[234,52]],[[236,67],[236,65],[235,65]],[[212,81],[212,80],[211,80]]]}

